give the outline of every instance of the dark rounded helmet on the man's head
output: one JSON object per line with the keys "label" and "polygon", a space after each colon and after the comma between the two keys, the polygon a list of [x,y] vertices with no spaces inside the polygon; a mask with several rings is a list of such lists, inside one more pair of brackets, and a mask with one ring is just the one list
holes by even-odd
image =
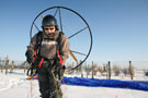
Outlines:
{"label": "dark rounded helmet on the man's head", "polygon": [[55,16],[46,15],[42,21],[42,27],[43,26],[56,26],[57,27],[57,21],[56,21]]}

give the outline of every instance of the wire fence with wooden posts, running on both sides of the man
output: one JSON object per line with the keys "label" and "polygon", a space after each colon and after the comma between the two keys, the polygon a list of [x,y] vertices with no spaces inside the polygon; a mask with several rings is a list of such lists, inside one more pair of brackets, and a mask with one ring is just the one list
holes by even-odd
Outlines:
{"label": "wire fence with wooden posts, running on both sides of the man", "polygon": [[[0,58],[1,73],[11,73],[14,69],[23,69],[25,73],[29,66],[25,61],[13,61],[10,60],[9,57]],[[73,68],[73,63],[67,64],[67,69],[70,68]],[[117,76],[122,76],[122,78],[128,77],[135,79],[136,76],[148,76],[148,61],[84,62],[83,65],[70,73],[77,73],[80,74],[81,77],[87,78],[115,79]]]}

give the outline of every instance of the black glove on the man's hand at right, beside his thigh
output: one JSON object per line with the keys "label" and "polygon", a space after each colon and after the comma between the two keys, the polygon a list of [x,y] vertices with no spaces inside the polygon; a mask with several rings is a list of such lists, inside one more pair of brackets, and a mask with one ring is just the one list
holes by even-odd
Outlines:
{"label": "black glove on the man's hand at right, beside his thigh", "polygon": [[65,65],[57,64],[55,66],[55,71],[54,72],[55,72],[55,74],[58,75],[58,78],[59,79],[62,78],[65,70],[66,70],[66,66]]}

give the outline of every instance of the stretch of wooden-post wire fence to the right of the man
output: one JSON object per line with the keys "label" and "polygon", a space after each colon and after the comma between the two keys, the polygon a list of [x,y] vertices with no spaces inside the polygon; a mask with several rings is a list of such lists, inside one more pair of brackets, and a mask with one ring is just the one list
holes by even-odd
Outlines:
{"label": "stretch of wooden-post wire fence to the right of the man", "polygon": [[145,76],[148,77],[148,61],[106,61],[84,63],[72,73],[79,73],[81,74],[79,76],[87,78],[144,79]]}

